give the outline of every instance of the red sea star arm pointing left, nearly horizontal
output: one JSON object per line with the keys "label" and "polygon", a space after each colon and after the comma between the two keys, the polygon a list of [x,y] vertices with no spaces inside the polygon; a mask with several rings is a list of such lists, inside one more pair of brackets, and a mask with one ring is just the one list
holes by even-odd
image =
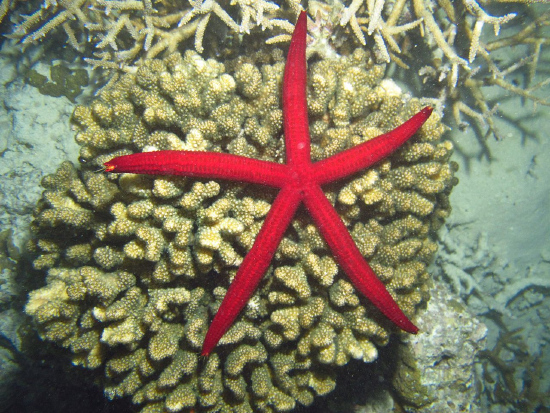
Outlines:
{"label": "red sea star arm pointing left, nearly horizontal", "polygon": [[277,188],[288,181],[286,165],[217,152],[141,152],[118,156],[104,165],[106,172],[229,179]]}

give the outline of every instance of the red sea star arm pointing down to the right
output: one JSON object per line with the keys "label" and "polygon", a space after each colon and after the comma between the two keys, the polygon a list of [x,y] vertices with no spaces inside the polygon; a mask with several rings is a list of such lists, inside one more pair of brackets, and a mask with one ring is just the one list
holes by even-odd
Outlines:
{"label": "red sea star arm pointing down to the right", "polygon": [[348,229],[318,185],[304,191],[304,204],[317,224],[336,261],[355,288],[386,317],[404,331],[416,334],[418,328],[401,311],[355,245]]}

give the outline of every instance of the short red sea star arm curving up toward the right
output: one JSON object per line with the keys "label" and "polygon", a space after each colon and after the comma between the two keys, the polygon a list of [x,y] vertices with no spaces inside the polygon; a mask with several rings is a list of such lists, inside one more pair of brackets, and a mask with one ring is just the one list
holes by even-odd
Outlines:
{"label": "short red sea star arm curving up toward the right", "polygon": [[427,106],[394,130],[313,164],[313,180],[319,185],[337,181],[374,165],[402,146],[432,113]]}

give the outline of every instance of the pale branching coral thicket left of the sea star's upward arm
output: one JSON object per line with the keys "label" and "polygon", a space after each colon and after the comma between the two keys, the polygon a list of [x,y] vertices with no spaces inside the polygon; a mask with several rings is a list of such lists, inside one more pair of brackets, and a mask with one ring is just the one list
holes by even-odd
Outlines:
{"label": "pale branching coral thicket left of the sea star's upward arm", "polygon": [[238,1],[238,14],[231,16],[226,11],[229,2],[213,0],[44,0],[33,13],[18,17],[9,37],[28,44],[63,31],[73,48],[94,51],[90,63],[121,68],[164,51],[172,53],[191,37],[202,52],[205,30],[214,16],[232,34],[248,34],[255,28],[291,32],[287,18],[296,15],[300,6],[294,1],[286,4],[286,11],[281,11],[278,4],[265,0]]}

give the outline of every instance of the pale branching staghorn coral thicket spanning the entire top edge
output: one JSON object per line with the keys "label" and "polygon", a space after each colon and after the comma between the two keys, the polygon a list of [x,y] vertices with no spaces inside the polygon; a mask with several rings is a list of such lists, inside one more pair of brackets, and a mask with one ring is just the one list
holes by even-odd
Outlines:
{"label": "pale branching staghorn coral thicket spanning the entire top edge", "polygon": [[[487,98],[487,88],[496,86],[535,105],[549,104],[545,94],[550,80],[535,75],[550,41],[544,30],[550,14],[543,5],[531,3],[311,1],[307,5],[311,16],[308,53],[334,57],[348,54],[350,44],[362,45],[380,62],[402,68],[398,76],[409,83],[420,78],[421,94],[432,96],[432,105],[449,108],[450,122],[460,128],[473,126],[481,139],[500,138],[495,122],[498,105]],[[7,10],[6,0],[2,4]],[[114,82],[120,71],[135,70],[143,59],[181,49],[191,38],[195,50],[204,53],[205,36],[209,36],[206,53],[218,55],[231,54],[230,45],[241,42],[237,37],[243,38],[245,47],[255,48],[250,34],[268,44],[288,41],[291,22],[302,6],[297,0],[44,0],[31,14],[16,18],[10,37],[27,44],[64,32],[67,42],[90,65],[107,69]],[[517,25],[519,29],[513,29]],[[511,29],[502,34],[506,28]],[[494,39],[488,39],[491,31]],[[228,35],[233,43],[227,42]],[[220,42],[224,37],[225,45]],[[529,50],[519,62],[496,57],[497,52],[506,56],[518,46]],[[527,82],[517,85],[525,70]],[[418,86],[413,83],[412,87]]]}

